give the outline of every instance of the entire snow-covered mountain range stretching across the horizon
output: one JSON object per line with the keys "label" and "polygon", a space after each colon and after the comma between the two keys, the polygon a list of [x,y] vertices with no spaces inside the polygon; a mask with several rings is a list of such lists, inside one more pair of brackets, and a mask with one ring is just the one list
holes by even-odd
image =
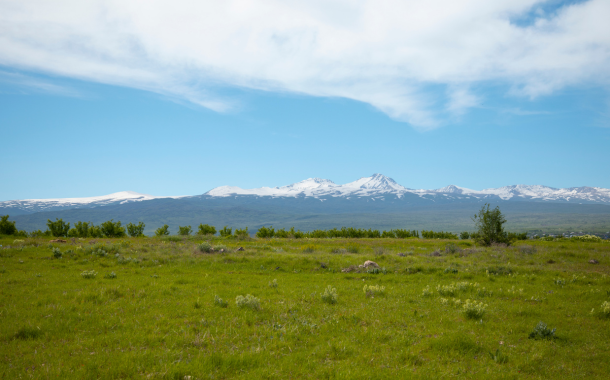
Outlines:
{"label": "entire snow-covered mountain range stretching across the horizon", "polygon": [[480,202],[480,201],[530,201],[576,204],[610,205],[610,189],[599,187],[571,187],[556,189],[541,185],[513,185],[495,189],[471,190],[449,185],[435,190],[409,189],[383,174],[373,174],[356,181],[339,185],[328,179],[309,178],[281,187],[242,189],[235,186],[216,187],[198,196],[157,197],[133,191],[122,191],[105,196],[89,198],[23,199],[0,202],[0,214],[23,215],[43,211],[98,208],[110,205],[125,205],[134,202],[149,202],[159,199],[214,200],[230,198],[267,199],[297,198],[318,199],[322,202],[335,200],[400,201],[410,203]]}

